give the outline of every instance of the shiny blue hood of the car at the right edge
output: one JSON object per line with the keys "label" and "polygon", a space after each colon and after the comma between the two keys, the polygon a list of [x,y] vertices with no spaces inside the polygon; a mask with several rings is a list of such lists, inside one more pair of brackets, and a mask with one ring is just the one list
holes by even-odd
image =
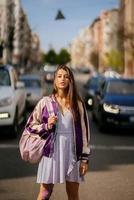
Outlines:
{"label": "shiny blue hood of the car at the right edge", "polygon": [[106,95],[104,102],[122,106],[134,106],[134,95]]}

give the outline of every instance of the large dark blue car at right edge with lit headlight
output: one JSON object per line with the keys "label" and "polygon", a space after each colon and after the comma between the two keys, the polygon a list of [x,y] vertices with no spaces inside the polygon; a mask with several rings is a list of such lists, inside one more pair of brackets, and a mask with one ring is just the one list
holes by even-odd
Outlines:
{"label": "large dark blue car at right edge with lit headlight", "polygon": [[94,96],[93,118],[101,130],[134,127],[134,79],[105,79]]}

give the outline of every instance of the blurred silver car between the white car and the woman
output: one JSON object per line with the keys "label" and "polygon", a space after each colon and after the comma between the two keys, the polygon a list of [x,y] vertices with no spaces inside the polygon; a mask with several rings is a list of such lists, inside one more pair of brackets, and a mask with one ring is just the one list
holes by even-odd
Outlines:
{"label": "blurred silver car between the white car and the woman", "polygon": [[20,80],[24,82],[27,91],[27,107],[34,107],[46,95],[44,81],[40,75],[23,74]]}

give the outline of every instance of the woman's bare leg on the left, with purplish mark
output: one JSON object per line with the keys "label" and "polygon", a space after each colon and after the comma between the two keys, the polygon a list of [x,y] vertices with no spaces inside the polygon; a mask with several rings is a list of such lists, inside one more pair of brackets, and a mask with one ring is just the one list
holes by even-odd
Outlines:
{"label": "woman's bare leg on the left, with purplish mark", "polygon": [[54,184],[41,184],[37,200],[49,200]]}

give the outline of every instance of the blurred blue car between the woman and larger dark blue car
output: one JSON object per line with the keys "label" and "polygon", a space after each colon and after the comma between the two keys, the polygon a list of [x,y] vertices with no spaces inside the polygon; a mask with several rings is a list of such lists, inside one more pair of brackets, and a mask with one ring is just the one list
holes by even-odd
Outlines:
{"label": "blurred blue car between the woman and larger dark blue car", "polygon": [[84,85],[84,101],[86,107],[89,109],[93,108],[93,99],[95,92],[98,90],[99,84],[103,80],[103,77],[100,75],[93,76],[88,79]]}

